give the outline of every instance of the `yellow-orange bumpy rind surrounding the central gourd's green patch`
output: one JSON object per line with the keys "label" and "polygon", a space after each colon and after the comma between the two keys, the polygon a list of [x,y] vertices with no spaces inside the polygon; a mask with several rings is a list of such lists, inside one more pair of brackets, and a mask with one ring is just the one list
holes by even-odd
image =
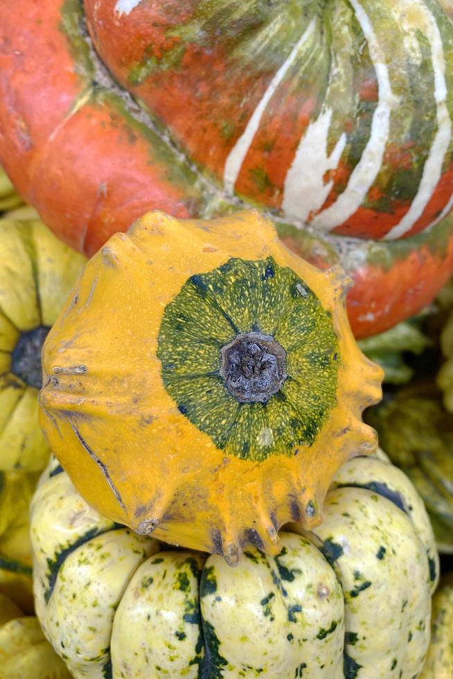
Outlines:
{"label": "yellow-orange bumpy rind surrounding the central gourd's green patch", "polygon": [[[296,457],[226,456],[163,387],[156,354],[167,304],[188,277],[234,256],[272,256],[332,313],[337,405]],[[382,370],[355,343],[347,286],[339,269],[320,272],[287,250],[256,211],[211,221],[148,213],[113,236],[85,267],[44,347],[40,421],[78,491],[112,520],[232,564],[250,542],[278,553],[275,531],[295,513],[305,528],[318,524],[308,502],[321,507],[337,468],[376,446],[361,414],[381,396]]]}

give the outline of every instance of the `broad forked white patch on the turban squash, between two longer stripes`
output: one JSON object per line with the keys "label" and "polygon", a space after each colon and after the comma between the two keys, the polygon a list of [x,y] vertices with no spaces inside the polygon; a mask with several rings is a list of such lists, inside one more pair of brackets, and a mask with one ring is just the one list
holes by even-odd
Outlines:
{"label": "broad forked white patch on the turban squash, between two longer stripes", "polygon": [[346,146],[346,133],[341,134],[332,153],[327,155],[327,140],[332,109],[323,109],[308,125],[296,155],[287,171],[283,188],[282,209],[288,219],[307,222],[310,213],[319,210],[333,186],[324,181],[328,170],[334,170]]}

